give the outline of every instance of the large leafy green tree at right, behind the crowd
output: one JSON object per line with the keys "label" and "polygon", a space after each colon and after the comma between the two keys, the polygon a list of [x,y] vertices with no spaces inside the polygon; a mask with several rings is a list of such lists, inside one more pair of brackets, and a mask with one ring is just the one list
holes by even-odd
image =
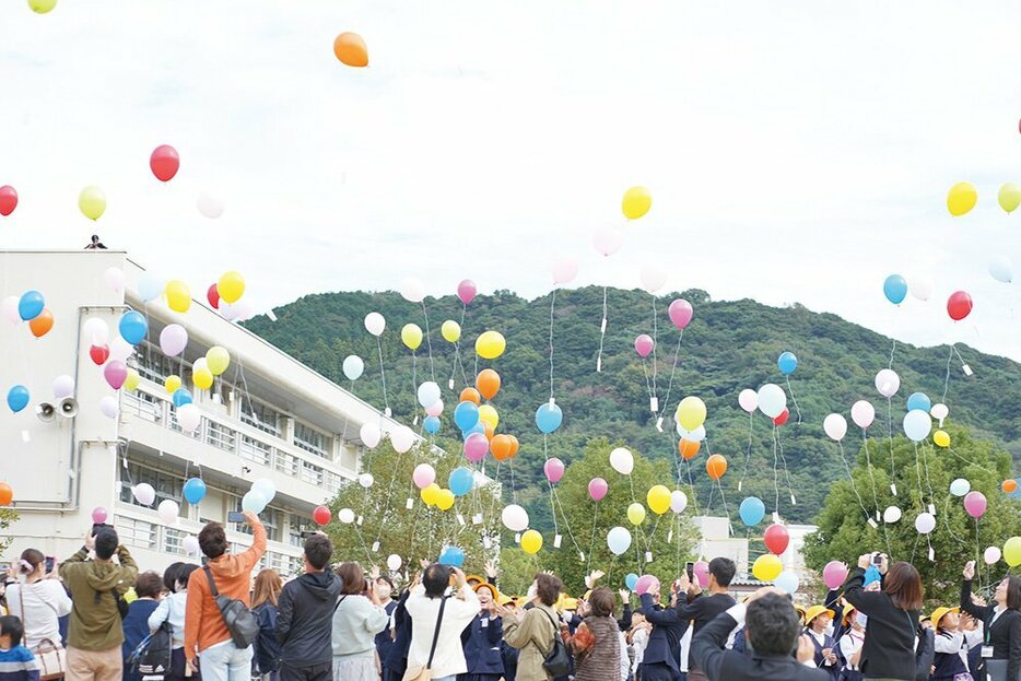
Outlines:
{"label": "large leafy green tree at right, behind the crowd", "polygon": [[[890,442],[873,438],[868,444],[876,500],[865,447],[861,448],[852,477],[865,508],[875,516],[878,500],[880,510],[896,506],[903,517],[892,524],[880,521],[878,528],[872,528],[845,475],[830,489],[817,519],[819,531],[806,540],[805,559],[809,567],[821,571],[832,560],[853,566],[862,553],[884,551],[892,561],[908,561],[918,568],[927,602],[954,602],[964,563],[977,560],[983,566],[986,547],[1002,545],[1009,537],[1021,533],[1018,514],[1021,504],[1000,491],[1000,482],[1010,477],[1010,456],[1006,451],[989,442],[974,439],[965,428],[944,430],[952,438],[951,447],[946,449],[928,444],[916,448],[902,436],[893,439],[896,496],[890,489]],[[961,500],[949,493],[950,482],[957,478],[967,480],[972,490],[988,500],[988,508],[977,523],[965,514]],[[915,529],[915,518],[928,512],[929,504],[935,506],[937,526],[926,537]],[[930,543],[932,560],[929,560]],[[1004,563],[999,563],[978,578],[982,583],[999,579],[1004,568]]]}

